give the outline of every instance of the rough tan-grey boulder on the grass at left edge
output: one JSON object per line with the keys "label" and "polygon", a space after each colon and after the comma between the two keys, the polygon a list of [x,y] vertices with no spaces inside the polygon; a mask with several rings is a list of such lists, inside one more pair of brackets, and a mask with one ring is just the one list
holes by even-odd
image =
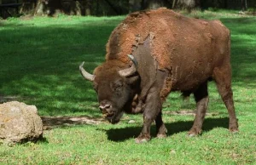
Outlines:
{"label": "rough tan-grey boulder on the grass at left edge", "polygon": [[18,101],[0,104],[0,142],[20,143],[43,137],[43,122],[35,105]]}

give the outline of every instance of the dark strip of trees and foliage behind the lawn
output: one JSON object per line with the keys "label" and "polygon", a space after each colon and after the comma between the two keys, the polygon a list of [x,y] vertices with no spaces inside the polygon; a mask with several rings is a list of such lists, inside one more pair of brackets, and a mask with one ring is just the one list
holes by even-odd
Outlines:
{"label": "dark strip of trees and foliage behind the lawn", "polygon": [[[1,8],[3,4],[19,4]],[[241,9],[256,11],[255,0],[0,0],[0,16],[122,15],[142,9]]]}

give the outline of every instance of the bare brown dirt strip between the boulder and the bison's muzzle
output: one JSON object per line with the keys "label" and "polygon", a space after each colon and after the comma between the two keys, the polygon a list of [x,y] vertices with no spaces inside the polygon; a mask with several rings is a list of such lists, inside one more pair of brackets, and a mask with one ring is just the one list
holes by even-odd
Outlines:
{"label": "bare brown dirt strip between the boulder and the bison's muzzle", "polygon": [[65,126],[73,126],[73,125],[81,125],[81,124],[90,124],[97,125],[102,122],[105,122],[103,118],[94,118],[94,117],[41,117],[44,124],[44,130],[65,127]]}

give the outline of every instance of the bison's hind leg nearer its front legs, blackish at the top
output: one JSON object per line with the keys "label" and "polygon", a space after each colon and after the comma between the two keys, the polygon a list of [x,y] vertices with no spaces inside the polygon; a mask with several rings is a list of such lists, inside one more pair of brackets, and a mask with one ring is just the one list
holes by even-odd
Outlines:
{"label": "bison's hind leg nearer its front legs, blackish at the top", "polygon": [[202,83],[199,88],[195,90],[194,96],[196,102],[195,120],[192,128],[189,130],[189,136],[201,134],[201,127],[206,116],[209,102],[207,82]]}

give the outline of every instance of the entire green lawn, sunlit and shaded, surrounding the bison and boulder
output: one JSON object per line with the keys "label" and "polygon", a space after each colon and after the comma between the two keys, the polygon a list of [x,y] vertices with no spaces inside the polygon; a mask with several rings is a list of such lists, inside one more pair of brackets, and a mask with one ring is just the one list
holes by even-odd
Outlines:
{"label": "entire green lawn, sunlit and shaded, surrounding the bison and boulder", "polygon": [[187,136],[195,102],[179,93],[164,105],[166,139],[135,144],[142,115],[125,115],[116,125],[102,120],[79,64],[85,61],[93,71],[102,63],[108,37],[124,16],[0,20],[0,98],[37,105],[52,122],[38,143],[0,145],[0,164],[256,164],[256,18],[224,11],[191,16],[219,19],[230,28],[238,134],[228,131],[214,83],[204,131],[195,138]]}

